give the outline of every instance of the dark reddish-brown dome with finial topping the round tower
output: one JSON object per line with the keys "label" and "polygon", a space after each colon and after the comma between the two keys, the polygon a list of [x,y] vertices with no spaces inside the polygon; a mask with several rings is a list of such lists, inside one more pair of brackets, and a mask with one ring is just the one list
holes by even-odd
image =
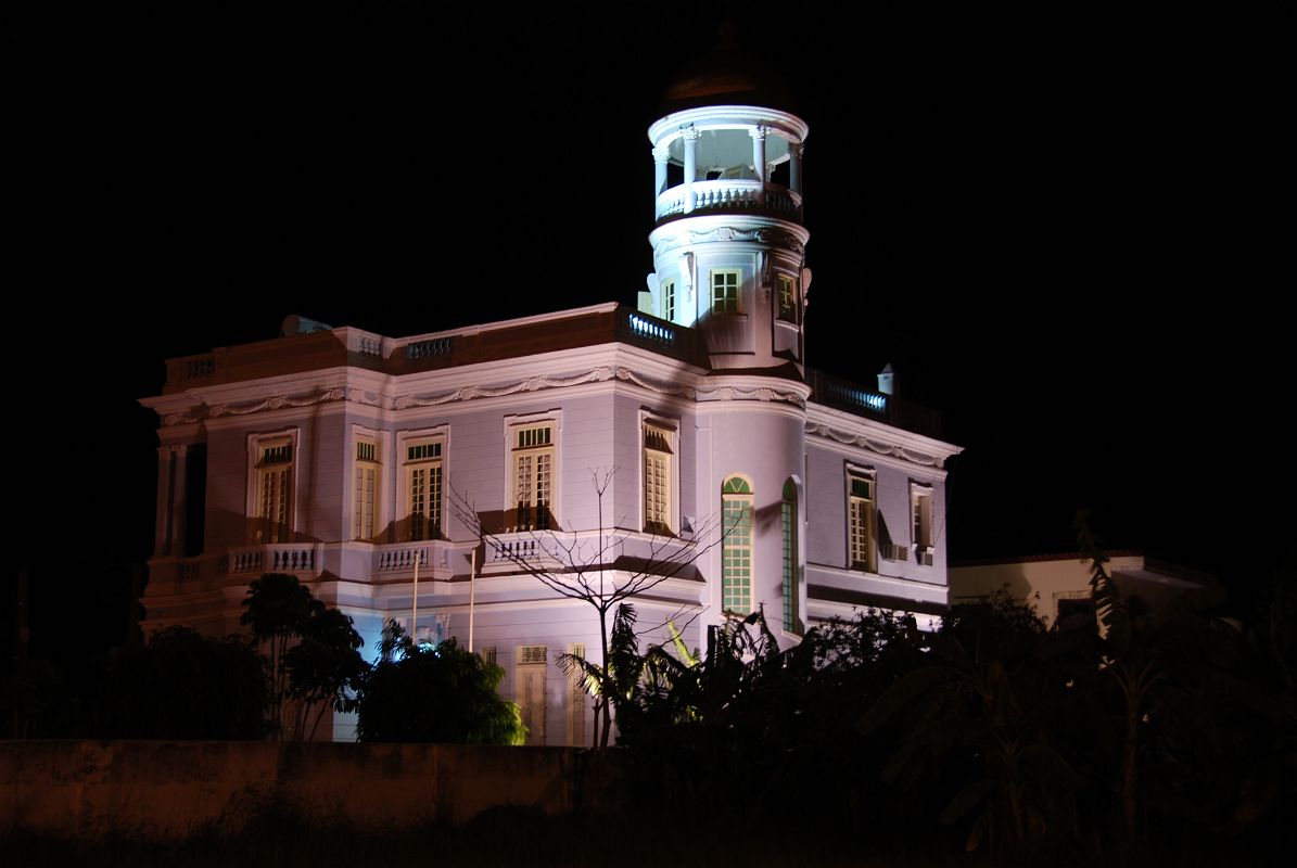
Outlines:
{"label": "dark reddish-brown dome with finial topping the round tower", "polygon": [[739,48],[732,22],[720,43],[686,64],[667,88],[661,114],[703,105],[760,105],[796,113],[792,88],[765,60]]}

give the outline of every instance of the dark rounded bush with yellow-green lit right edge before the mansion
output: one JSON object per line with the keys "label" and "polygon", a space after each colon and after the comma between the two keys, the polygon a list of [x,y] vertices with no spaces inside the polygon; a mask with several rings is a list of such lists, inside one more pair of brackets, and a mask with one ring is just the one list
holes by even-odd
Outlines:
{"label": "dark rounded bush with yellow-green lit right edge before the mansion", "polygon": [[396,623],[357,698],[361,741],[520,745],[518,706],[497,693],[505,671],[454,640],[415,645]]}

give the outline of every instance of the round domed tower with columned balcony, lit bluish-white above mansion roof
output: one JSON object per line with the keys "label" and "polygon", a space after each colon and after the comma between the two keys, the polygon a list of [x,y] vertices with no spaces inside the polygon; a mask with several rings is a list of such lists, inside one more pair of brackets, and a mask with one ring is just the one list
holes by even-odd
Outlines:
{"label": "round domed tower with columned balcony, lit bluish-white above mansion roof", "polygon": [[802,375],[808,127],[789,105],[778,78],[722,36],[648,127],[656,224],[639,307],[700,330],[713,370]]}

